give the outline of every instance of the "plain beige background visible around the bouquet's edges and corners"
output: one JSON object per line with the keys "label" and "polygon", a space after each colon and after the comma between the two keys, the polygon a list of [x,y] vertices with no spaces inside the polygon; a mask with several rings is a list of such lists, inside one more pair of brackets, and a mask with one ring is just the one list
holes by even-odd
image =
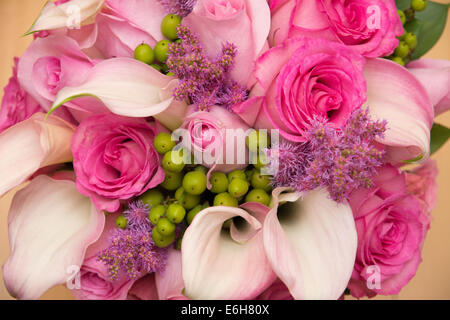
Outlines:
{"label": "plain beige background visible around the bouquet's edges and corners", "polygon": [[[20,56],[31,41],[21,37],[37,17],[46,0],[0,0],[0,87],[11,76],[14,56]],[[449,0],[440,0],[449,3]],[[429,58],[450,60],[450,17],[439,43],[427,54]],[[3,96],[3,91],[1,92]],[[440,116],[438,122],[450,126],[450,112]],[[1,155],[0,155],[1,156]],[[416,277],[403,289],[400,299],[450,299],[450,143],[434,156],[440,170],[438,205],[423,250],[423,262]],[[0,264],[9,254],[7,213],[12,193],[0,199]],[[62,286],[51,289],[43,299],[71,299]],[[382,298],[382,297],[380,297]],[[392,298],[392,297],[387,297]],[[0,299],[11,299],[0,275]]]}

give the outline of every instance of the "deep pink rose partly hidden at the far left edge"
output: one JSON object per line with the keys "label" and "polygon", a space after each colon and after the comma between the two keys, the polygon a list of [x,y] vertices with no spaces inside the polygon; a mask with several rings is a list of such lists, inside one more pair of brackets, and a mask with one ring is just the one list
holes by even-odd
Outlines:
{"label": "deep pink rose partly hidden at the far left edge", "polygon": [[19,58],[14,58],[13,76],[4,89],[5,94],[0,109],[0,133],[28,119],[32,114],[42,111],[39,103],[20,86],[17,80],[18,61]]}

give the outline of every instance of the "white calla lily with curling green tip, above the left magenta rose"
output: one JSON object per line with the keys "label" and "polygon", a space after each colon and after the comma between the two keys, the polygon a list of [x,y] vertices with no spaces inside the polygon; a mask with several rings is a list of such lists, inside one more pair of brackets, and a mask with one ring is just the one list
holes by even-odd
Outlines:
{"label": "white calla lily with curling green tip, above the left magenta rose", "polygon": [[[168,109],[174,100],[164,90],[172,81],[176,80],[135,59],[108,59],[93,67],[80,86],[61,89],[50,112],[73,99],[91,96],[118,115],[155,116]],[[164,118],[158,120],[166,125]],[[173,123],[172,120],[168,125]],[[181,119],[175,123],[181,123]]]}

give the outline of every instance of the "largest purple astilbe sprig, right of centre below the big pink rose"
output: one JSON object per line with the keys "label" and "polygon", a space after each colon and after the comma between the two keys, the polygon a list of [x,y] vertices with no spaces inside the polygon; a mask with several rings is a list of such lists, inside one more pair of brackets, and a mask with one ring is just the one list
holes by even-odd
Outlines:
{"label": "largest purple astilbe sprig, right of centre below the big pink rose", "polygon": [[337,202],[357,188],[372,187],[384,157],[384,150],[374,142],[383,137],[386,125],[386,121],[372,121],[368,110],[362,108],[355,110],[341,129],[314,119],[306,132],[307,142],[284,141],[269,150],[269,161],[278,161],[273,186],[298,191],[326,187]]}

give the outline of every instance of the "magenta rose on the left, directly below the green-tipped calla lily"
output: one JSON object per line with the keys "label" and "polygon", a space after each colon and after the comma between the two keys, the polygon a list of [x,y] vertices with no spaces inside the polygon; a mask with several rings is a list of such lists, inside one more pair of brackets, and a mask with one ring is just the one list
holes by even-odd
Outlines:
{"label": "magenta rose on the left, directly below the green-tipped calla lily", "polygon": [[99,210],[115,212],[120,201],[144,193],[164,180],[153,147],[154,124],[113,114],[85,119],[72,139],[78,190]]}

